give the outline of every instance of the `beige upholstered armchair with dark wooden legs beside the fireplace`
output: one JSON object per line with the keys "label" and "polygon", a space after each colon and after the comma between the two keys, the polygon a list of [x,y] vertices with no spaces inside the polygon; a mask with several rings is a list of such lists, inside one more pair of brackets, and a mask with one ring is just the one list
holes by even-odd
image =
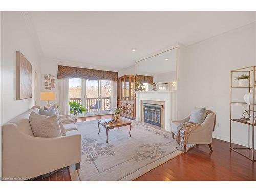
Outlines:
{"label": "beige upholstered armchair with dark wooden legs beside the fireplace", "polygon": [[[173,134],[173,138],[175,138],[177,134],[178,126],[181,123],[188,122],[190,119],[190,115],[181,120],[172,121],[171,132]],[[211,151],[211,143],[212,143],[212,132],[214,130],[214,120],[215,115],[210,113],[206,116],[204,122],[202,122],[190,135],[188,139],[188,144],[208,144]],[[187,151],[187,146],[185,146],[185,152]]]}

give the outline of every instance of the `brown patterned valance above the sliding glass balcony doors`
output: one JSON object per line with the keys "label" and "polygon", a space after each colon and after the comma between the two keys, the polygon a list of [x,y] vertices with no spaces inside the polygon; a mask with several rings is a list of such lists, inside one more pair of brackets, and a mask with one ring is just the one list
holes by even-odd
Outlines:
{"label": "brown patterned valance above the sliding glass balcony doors", "polygon": [[63,78],[83,78],[88,80],[117,81],[118,72],[59,65],[58,79]]}

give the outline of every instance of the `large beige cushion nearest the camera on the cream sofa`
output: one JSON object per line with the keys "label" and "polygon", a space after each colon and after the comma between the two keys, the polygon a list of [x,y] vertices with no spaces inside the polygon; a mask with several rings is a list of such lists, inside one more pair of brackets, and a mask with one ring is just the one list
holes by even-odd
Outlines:
{"label": "large beige cushion nearest the camera on the cream sofa", "polygon": [[61,131],[57,115],[45,116],[31,112],[29,116],[31,129],[36,137],[60,137]]}

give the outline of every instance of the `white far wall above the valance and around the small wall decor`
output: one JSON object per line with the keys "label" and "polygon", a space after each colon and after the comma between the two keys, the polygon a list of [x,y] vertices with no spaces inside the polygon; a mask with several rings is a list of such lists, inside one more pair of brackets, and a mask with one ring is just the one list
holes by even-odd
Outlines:
{"label": "white far wall above the valance and around the small wall decor", "polygon": [[[41,59],[41,91],[49,91],[49,90],[46,90],[45,86],[44,86],[44,75],[51,74],[51,75],[55,75],[55,88],[52,89],[51,91],[57,92],[57,90],[58,90],[58,80],[57,80],[58,65],[118,72],[117,69],[113,69],[113,68],[109,68],[109,67],[105,67],[105,66],[95,66],[95,65],[90,65],[88,63],[82,63],[82,62],[71,62],[71,61],[43,58],[43,59]],[[55,103],[58,104],[57,101],[51,101],[51,104],[55,104]],[[41,101],[41,106],[46,106],[46,101]]]}

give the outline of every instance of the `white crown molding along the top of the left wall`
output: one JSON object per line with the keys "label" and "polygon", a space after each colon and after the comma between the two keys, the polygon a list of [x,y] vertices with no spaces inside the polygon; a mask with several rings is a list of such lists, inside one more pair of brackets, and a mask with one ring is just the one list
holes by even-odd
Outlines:
{"label": "white crown molding along the top of the left wall", "polygon": [[28,32],[29,32],[29,34],[32,38],[33,43],[34,43],[36,52],[38,53],[38,55],[41,58],[44,57],[44,53],[42,52],[41,44],[40,44],[39,38],[37,36],[36,30],[34,28],[34,25],[33,25],[33,22],[32,22],[32,19],[31,19],[31,16],[30,16],[29,12],[28,11],[22,11],[22,16],[25,20],[26,27],[27,27]]}

